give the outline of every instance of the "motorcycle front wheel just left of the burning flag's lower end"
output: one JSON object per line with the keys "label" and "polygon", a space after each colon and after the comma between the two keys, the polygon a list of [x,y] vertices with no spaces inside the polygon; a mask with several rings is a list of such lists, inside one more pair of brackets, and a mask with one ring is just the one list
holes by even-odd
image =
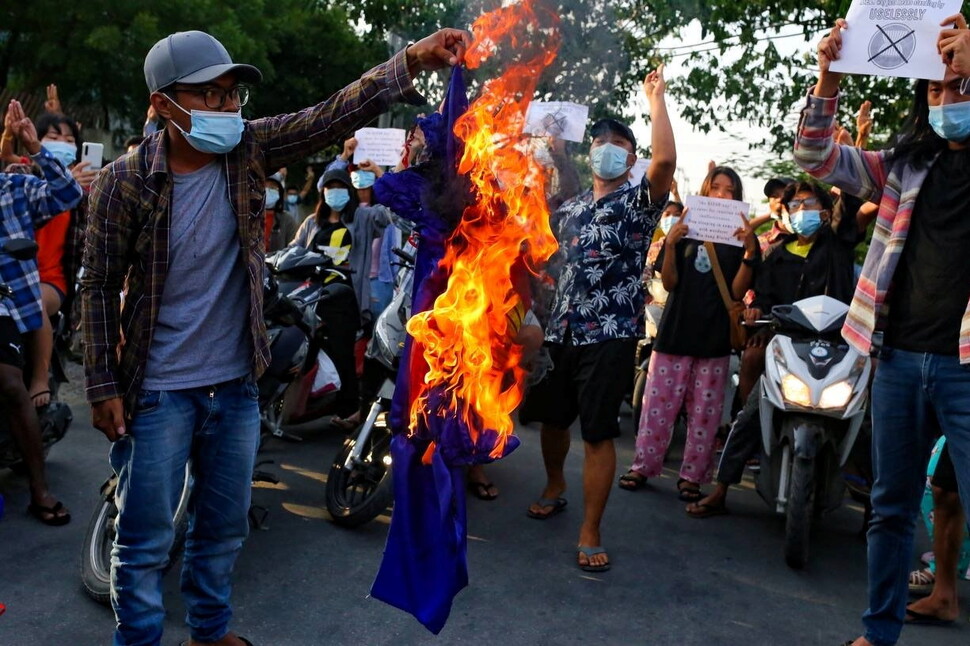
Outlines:
{"label": "motorcycle front wheel just left of the burning flag's lower end", "polygon": [[[358,527],[379,516],[394,499],[391,484],[391,432],[384,424],[365,426],[344,440],[327,477],[327,511],[341,527]],[[366,435],[360,458],[347,468],[347,458]]]}

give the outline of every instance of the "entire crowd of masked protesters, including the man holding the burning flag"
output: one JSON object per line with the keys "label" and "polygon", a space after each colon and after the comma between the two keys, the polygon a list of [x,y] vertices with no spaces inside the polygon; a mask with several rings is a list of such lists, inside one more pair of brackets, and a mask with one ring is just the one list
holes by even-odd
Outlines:
{"label": "entire crowd of masked protesters, including the man holding the burning flag", "polygon": [[[684,410],[677,494],[694,518],[726,514],[730,486],[759,454],[757,384],[767,331],[752,335],[740,353],[737,415],[730,432],[722,432],[732,316],[754,322],[775,306],[824,294],[850,305],[844,337],[859,352],[868,355],[874,333],[884,332],[872,384],[869,609],[865,636],[847,642],[884,646],[896,643],[905,622],[945,623],[958,615],[955,550],[968,500],[961,505],[959,491],[970,487],[970,30],[961,16],[945,22],[938,46],[946,77],[917,82],[909,120],[893,145],[868,150],[868,102],[857,137],[835,121],[840,75],[829,65],[839,58],[845,27],[839,21],[818,47],[819,79],[795,144],[795,161],[807,175],[765,185],[768,213],[740,214],[738,246],[689,235],[674,180],[675,133],[662,67],[643,83],[651,159],[639,182],[630,180],[638,142],[622,121],[592,125],[592,185],[584,190],[562,141],[538,146],[559,250],[533,281],[534,294],[523,298],[530,307],[522,308],[509,343],[525,348],[530,367],[549,367],[530,379],[520,410],[524,423],[541,424],[547,476],[527,515],[545,520],[565,508],[563,467],[578,420],[584,510],[576,563],[603,572],[611,567],[601,524],[616,482],[617,420],[648,306],[656,308],[657,325],[635,420],[635,456],[617,484],[637,491],[661,474]],[[427,159],[421,126],[434,115],[419,120],[393,169],[353,163],[357,142],[343,137],[392,103],[420,104],[412,80],[456,64],[469,44],[467,33],[441,30],[312,108],[244,121],[240,109],[259,70],[233,62],[208,34],[173,34],[145,59],[150,108],[142,135],[126,141],[126,152],[100,172],[79,161],[82,133],[63,114],[56,87],[48,88],[45,112],[35,121],[16,101],[6,107],[0,243],[33,238],[39,249],[36,260],[0,256],[0,277],[12,293],[0,300],[0,400],[27,468],[29,513],[48,525],[70,522],[47,486],[37,411],[51,398],[50,316],[79,299],[87,397],[94,426],[112,442],[119,477],[116,644],[161,638],[160,572],[189,454],[194,520],[182,591],[190,643],[249,643],[229,630],[229,590],[248,533],[259,437],[255,378],[270,360],[262,320],[265,254],[300,246],[347,269],[352,290],[321,315],[342,384],[333,424],[355,428],[362,405],[355,346],[391,301],[398,225],[415,218],[395,182]],[[341,152],[319,180],[312,168],[301,181],[288,176],[288,166],[333,145],[342,145]],[[741,201],[744,188],[734,169],[712,163],[698,194]],[[869,252],[857,276],[855,250],[868,231]],[[448,233],[425,232],[428,246],[419,251],[437,249]],[[199,275],[205,280],[193,279]],[[743,302],[743,311],[731,302]],[[932,429],[946,437],[934,479],[937,563],[911,573]],[[715,487],[705,493],[715,472]],[[473,495],[498,497],[481,467],[468,477]],[[932,594],[907,607],[914,586]]]}

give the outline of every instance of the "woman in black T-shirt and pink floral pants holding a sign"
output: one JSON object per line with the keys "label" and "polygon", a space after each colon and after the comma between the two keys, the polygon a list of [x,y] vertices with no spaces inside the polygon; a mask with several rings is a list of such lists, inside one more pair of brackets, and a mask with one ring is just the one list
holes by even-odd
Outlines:
{"label": "woman in black T-shirt and pink floral pants holding a sign", "polygon": [[[741,178],[717,166],[704,180],[701,195],[740,201]],[[717,273],[740,299],[751,287],[752,266],[761,250],[744,213],[738,214],[744,224],[735,233],[743,247],[688,238],[685,215],[670,229],[658,258],[669,297],[647,371],[636,458],[619,486],[634,491],[660,475],[677,414],[686,406],[687,446],[677,489],[681,500],[696,502],[714,471],[714,440],[731,358],[730,322]]]}

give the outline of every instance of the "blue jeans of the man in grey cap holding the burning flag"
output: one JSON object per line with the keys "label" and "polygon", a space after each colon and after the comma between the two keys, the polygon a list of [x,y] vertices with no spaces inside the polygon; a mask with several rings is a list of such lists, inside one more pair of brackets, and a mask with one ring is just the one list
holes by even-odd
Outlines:
{"label": "blue jeans of the man in grey cap holding the burning flag", "polygon": [[249,533],[257,399],[249,378],[139,394],[128,434],[112,445],[110,455],[118,474],[111,552],[116,646],[161,642],[162,570],[190,458],[193,483],[181,582],[186,623],[197,641],[218,641],[229,632],[230,577]]}

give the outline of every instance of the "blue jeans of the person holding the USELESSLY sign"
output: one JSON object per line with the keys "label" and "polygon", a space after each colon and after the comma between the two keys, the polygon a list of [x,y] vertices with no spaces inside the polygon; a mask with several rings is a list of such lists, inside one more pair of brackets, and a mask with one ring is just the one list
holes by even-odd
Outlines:
{"label": "blue jeans of the person holding the USELESSLY sign", "polygon": [[872,384],[872,524],[866,639],[899,639],[908,601],[913,531],[926,484],[935,416],[947,438],[970,517],[970,365],[956,356],[886,348]]}

